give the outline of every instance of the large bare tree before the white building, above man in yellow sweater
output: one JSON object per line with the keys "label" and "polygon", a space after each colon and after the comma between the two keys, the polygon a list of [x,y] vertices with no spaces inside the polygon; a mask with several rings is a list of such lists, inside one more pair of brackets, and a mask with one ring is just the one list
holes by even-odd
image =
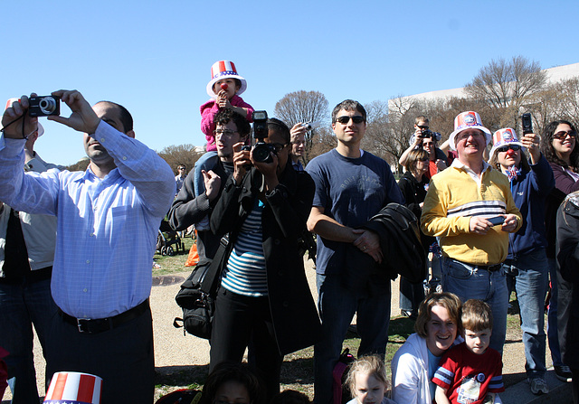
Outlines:
{"label": "large bare tree before the white building, above man in yellow sweater", "polygon": [[537,61],[515,56],[492,60],[465,86],[471,99],[500,110],[500,126],[517,127],[521,108],[546,87],[546,72]]}

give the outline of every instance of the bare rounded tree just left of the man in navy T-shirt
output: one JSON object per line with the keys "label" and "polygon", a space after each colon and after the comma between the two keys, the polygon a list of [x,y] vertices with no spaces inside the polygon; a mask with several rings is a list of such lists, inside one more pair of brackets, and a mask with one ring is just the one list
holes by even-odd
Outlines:
{"label": "bare rounded tree just left of the man in navy T-shirt", "polygon": [[[283,96],[275,104],[275,115],[284,121],[289,127],[293,127],[298,122],[318,121],[323,125],[328,120],[328,102],[324,94],[319,91],[299,91],[290,92]],[[306,153],[304,163],[308,164],[313,158],[312,147],[318,129],[310,130],[306,133]]]}

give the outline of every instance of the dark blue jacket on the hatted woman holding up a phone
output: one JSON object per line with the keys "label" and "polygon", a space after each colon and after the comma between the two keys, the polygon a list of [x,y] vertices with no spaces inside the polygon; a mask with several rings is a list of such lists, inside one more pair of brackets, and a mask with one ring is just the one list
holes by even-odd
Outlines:
{"label": "dark blue jacket on the hatted woman holding up a phone", "polygon": [[509,234],[507,259],[546,248],[545,201],[546,196],[555,188],[555,178],[551,166],[542,154],[537,164],[530,166],[531,171],[523,170],[523,173],[510,183],[515,204],[523,215],[523,226],[516,233]]}

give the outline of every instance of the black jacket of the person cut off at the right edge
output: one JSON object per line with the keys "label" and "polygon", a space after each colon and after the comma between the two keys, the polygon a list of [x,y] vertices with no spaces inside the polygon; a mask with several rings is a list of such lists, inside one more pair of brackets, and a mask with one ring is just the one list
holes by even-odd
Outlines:
{"label": "black jacket of the person cut off at the right edge", "polygon": [[579,192],[561,204],[556,216],[557,331],[563,362],[579,368]]}

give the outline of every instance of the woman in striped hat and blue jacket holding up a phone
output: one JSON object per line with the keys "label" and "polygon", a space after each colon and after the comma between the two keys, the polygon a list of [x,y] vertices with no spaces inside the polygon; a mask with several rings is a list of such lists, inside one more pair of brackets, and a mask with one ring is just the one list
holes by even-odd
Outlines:
{"label": "woman in striped hat and blue jacket holding up a phone", "polygon": [[[527,149],[527,155],[523,150]],[[553,171],[533,133],[518,140],[515,129],[493,135],[489,163],[508,176],[510,190],[525,225],[508,235],[508,256],[503,263],[508,294],[517,291],[525,345],[527,379],[533,394],[549,392],[545,380],[545,296],[549,267],[546,258],[545,202],[555,187]]]}

